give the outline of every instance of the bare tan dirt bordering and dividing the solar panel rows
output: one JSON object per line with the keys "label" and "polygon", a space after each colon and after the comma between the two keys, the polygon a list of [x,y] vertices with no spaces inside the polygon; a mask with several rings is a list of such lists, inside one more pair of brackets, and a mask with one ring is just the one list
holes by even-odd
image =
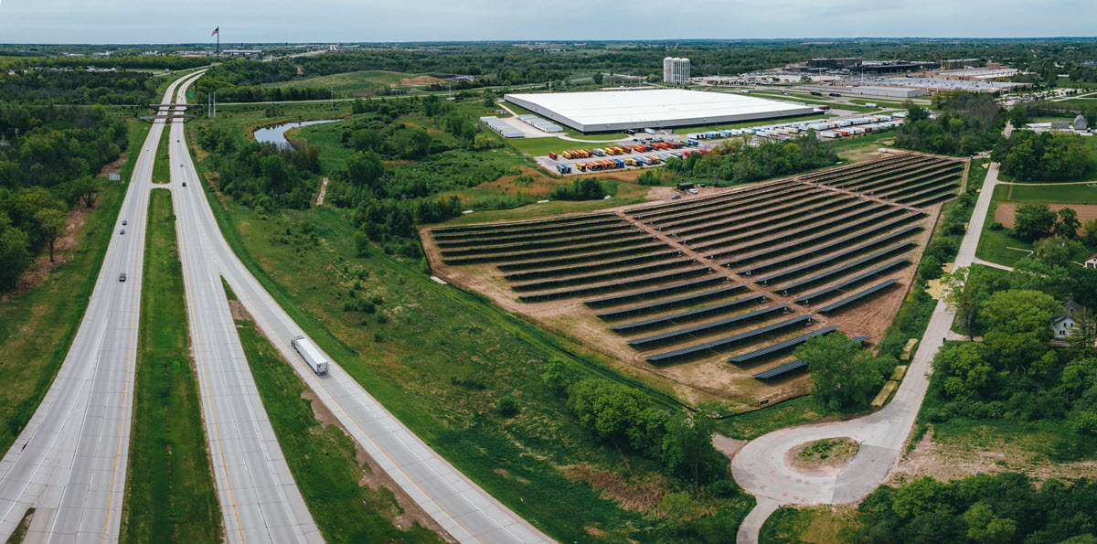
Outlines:
{"label": "bare tan dirt bordering and dividing the solar panel rows", "polygon": [[[780,182],[780,180],[778,181]],[[773,182],[773,183],[778,183]],[[534,182],[536,184],[538,182]],[[757,189],[758,185],[747,185],[730,189],[706,188],[701,190],[704,194],[714,195],[721,193],[746,191]],[[647,196],[653,200],[669,202],[671,194],[676,191],[672,188],[653,188]],[[655,205],[652,202],[646,205]],[[621,212],[622,209],[636,209],[638,206],[626,206],[623,208],[610,208],[610,212]],[[866,304],[860,304],[846,311],[839,313],[832,318],[824,316],[813,317],[817,325],[836,325],[849,337],[867,336],[868,343],[875,343],[883,337],[884,328],[891,324],[895,313],[898,310],[909,287],[914,273],[917,270],[918,260],[931,235],[930,226],[936,223],[936,216],[940,211],[940,205],[934,205],[926,209],[927,217],[923,219],[926,227],[916,240],[917,248],[909,254],[912,263],[896,272],[887,274],[887,277],[897,277],[900,285],[892,287],[882,295],[873,297]],[[623,214],[622,214],[623,215]],[[429,234],[428,227],[421,227],[420,239],[423,250],[430,260],[431,269],[439,277],[460,286],[461,288],[476,291],[490,297],[504,309],[513,314],[528,316],[542,324],[543,328],[557,335],[564,335],[596,351],[604,353],[624,366],[641,370],[665,379],[666,384],[672,388],[674,393],[689,403],[698,403],[705,399],[716,398],[730,401],[733,405],[756,406],[758,399],[783,398],[788,392],[802,390],[807,383],[806,375],[799,375],[788,379],[778,379],[773,383],[762,383],[753,377],[759,369],[748,366],[738,369],[735,365],[725,363],[728,355],[735,352],[723,353],[721,355],[708,356],[704,359],[679,364],[668,364],[654,366],[644,359],[644,352],[638,352],[630,347],[622,337],[612,330],[607,322],[596,317],[583,304],[583,298],[566,298],[542,303],[519,302],[514,292],[510,288],[509,282],[504,280],[494,264],[480,263],[471,265],[452,267],[446,265],[441,260],[441,254],[433,237]],[[687,257],[697,257],[701,262],[705,259],[698,256],[689,248],[676,243],[670,243],[674,249],[679,249]],[[708,264],[708,263],[705,263]],[[792,304],[791,298],[785,298],[774,294],[767,287],[762,287],[749,282],[749,279],[739,277],[728,269],[716,267],[717,272],[727,275],[733,283],[748,283],[753,291],[765,293],[771,301],[791,304],[795,314],[810,314],[810,309]],[[588,297],[589,298],[589,297]],[[776,338],[774,341],[782,341],[802,335],[803,331],[792,331]],[[747,352],[758,349],[758,345],[745,347],[736,352]]]}

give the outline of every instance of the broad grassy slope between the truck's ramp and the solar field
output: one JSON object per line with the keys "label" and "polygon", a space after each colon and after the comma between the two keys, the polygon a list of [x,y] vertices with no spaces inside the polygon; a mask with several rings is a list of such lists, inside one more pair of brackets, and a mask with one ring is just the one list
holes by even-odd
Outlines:
{"label": "broad grassy slope between the truck's ramp and the solar field", "polygon": [[[375,250],[358,258],[349,212],[285,211],[264,220],[250,208],[210,197],[230,246],[291,317],[488,492],[561,541],[586,541],[587,528],[613,539],[678,540],[654,505],[642,501],[638,510],[626,510],[619,502],[658,497],[678,485],[652,460],[595,443],[544,387],[541,373],[558,358],[573,379],[629,383],[672,409],[676,403],[656,388],[666,384],[547,335],[478,295],[438,285],[417,262]],[[372,313],[343,310],[344,303],[362,297],[371,301]],[[519,399],[516,418],[494,408],[506,395]],[[622,466],[630,469],[622,473]],[[598,487],[580,474],[592,475]],[[611,487],[614,491],[602,494]],[[694,495],[702,505],[743,515],[753,503],[703,490]]]}

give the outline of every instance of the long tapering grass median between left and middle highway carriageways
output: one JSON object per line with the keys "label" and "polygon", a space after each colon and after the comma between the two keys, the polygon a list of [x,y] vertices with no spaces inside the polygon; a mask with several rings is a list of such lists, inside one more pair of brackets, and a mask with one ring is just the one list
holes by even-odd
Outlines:
{"label": "long tapering grass median between left and middle highway carriageways", "polygon": [[152,190],[129,466],[118,542],[220,542],[222,522],[190,356],[171,193]]}

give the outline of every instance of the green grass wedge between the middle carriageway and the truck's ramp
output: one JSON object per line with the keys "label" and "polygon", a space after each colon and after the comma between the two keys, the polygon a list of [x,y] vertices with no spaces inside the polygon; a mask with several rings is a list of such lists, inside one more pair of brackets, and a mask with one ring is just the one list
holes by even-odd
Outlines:
{"label": "green grass wedge between the middle carriageway and the truck's ramp", "polygon": [[324,540],[336,542],[443,542],[418,523],[402,531],[393,518],[404,513],[393,491],[359,485],[370,466],[359,464],[354,442],[338,427],[323,426],[307,387],[278,350],[255,328],[237,320],[237,332],[297,489]]}

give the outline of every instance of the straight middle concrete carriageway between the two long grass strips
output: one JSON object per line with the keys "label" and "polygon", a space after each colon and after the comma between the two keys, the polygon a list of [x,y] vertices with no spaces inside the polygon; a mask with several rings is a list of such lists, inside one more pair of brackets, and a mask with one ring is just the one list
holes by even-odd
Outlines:
{"label": "straight middle concrete carriageway between the two long grass strips", "polygon": [[[183,102],[186,87],[178,91]],[[181,168],[190,163],[184,125],[169,137],[172,203],[183,265],[186,311],[202,416],[228,542],[324,542],[274,430],[263,410],[220,283],[220,261],[210,249],[216,225],[193,220],[202,191]],[[181,182],[190,181],[188,186]]]}

